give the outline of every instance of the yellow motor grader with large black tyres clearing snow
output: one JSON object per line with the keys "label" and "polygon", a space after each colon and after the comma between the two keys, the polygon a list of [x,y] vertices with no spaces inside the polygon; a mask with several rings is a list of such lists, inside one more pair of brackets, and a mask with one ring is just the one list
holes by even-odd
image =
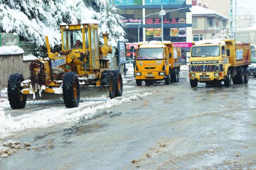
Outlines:
{"label": "yellow motor grader with large black tyres clearing snow", "polygon": [[[80,97],[94,93],[106,97],[122,96],[122,76],[109,69],[108,33],[103,33],[104,45],[98,45],[98,25],[80,23],[61,25],[62,51],[51,53],[45,37],[47,53],[44,59],[30,64],[29,80],[15,73],[9,76],[8,99],[12,109],[22,109],[30,100],[62,97],[67,108],[78,107]],[[60,69],[61,68],[61,69]]]}

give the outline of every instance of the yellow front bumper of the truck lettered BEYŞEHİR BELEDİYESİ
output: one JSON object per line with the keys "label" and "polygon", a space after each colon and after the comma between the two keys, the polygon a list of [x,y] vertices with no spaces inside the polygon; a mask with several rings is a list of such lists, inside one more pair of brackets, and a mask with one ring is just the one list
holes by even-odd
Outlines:
{"label": "yellow front bumper of the truck lettered BEY\u015eEH\u0130R BELED\u0130YES\u0130", "polygon": [[[214,73],[222,73],[222,76],[215,76]],[[192,75],[195,74],[195,77],[192,77]],[[197,79],[199,82],[206,82],[206,81],[218,81],[218,80],[224,80],[224,72],[206,72],[206,73],[189,73],[189,79],[195,80]]]}

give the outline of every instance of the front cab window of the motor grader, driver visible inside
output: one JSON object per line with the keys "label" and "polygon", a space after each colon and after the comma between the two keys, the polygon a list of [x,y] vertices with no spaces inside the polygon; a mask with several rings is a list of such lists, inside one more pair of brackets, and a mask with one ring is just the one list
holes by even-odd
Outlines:
{"label": "front cab window of the motor grader, driver visible inside", "polygon": [[[63,31],[64,49],[82,49],[83,48],[82,29]],[[86,36],[85,36],[85,39]],[[86,48],[87,48],[87,44]]]}

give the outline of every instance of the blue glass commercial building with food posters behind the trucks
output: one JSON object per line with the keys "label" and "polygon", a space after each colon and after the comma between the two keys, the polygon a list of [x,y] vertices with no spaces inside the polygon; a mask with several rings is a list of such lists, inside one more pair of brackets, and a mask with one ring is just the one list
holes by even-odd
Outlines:
{"label": "blue glass commercial building with food posters behind the trucks", "polygon": [[[128,42],[138,41],[138,26],[143,17],[158,13],[163,10],[169,11],[181,8],[183,3],[191,7],[191,0],[118,0],[115,1],[120,9],[120,15],[126,23],[124,30],[127,33]],[[148,16],[140,25],[139,41],[161,40],[163,31],[164,40],[172,42],[192,41],[192,15],[186,11],[172,11],[163,16],[163,30],[161,30],[160,15]]]}

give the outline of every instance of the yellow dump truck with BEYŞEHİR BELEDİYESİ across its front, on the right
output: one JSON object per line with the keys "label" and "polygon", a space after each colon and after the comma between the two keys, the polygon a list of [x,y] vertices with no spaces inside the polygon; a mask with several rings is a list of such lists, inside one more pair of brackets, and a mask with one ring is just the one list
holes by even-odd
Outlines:
{"label": "yellow dump truck with BEY\u015eEH\u0130R BELED\u0130YES\u0130 across its front, on the right", "polygon": [[192,88],[198,82],[206,85],[248,83],[251,63],[250,43],[235,40],[203,40],[193,42],[189,59],[189,79]]}

